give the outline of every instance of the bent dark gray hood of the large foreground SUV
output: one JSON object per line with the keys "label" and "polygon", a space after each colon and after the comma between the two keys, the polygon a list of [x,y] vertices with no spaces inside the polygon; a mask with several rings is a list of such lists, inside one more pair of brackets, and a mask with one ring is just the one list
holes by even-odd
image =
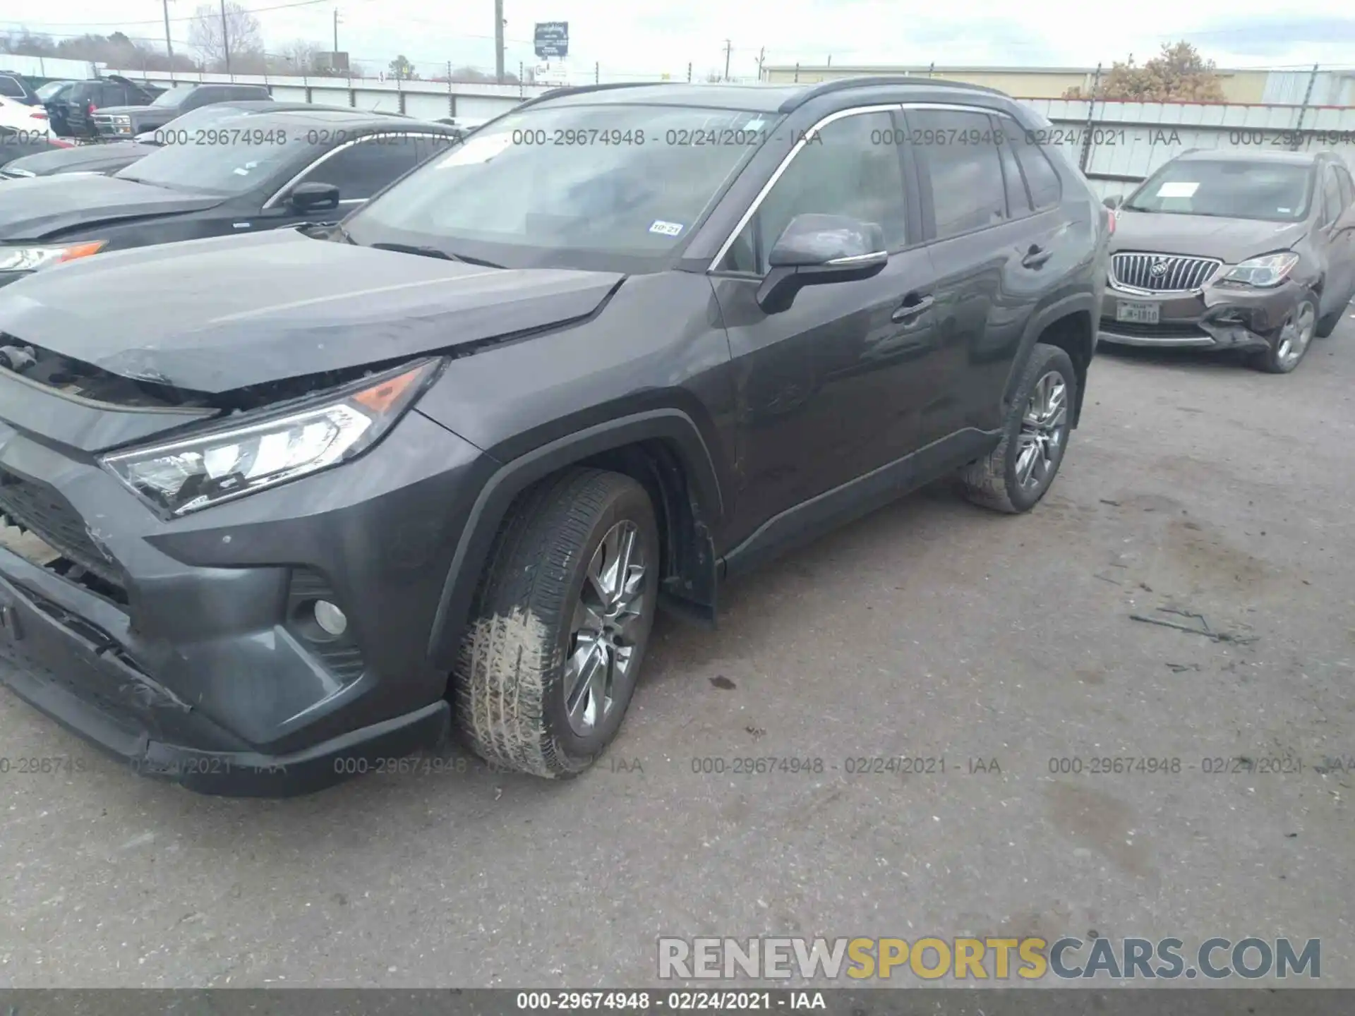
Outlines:
{"label": "bent dark gray hood of the large foreground SUV", "polygon": [[287,229],[34,272],[0,289],[0,332],[111,374],[220,393],[564,324],[623,278],[484,268]]}

